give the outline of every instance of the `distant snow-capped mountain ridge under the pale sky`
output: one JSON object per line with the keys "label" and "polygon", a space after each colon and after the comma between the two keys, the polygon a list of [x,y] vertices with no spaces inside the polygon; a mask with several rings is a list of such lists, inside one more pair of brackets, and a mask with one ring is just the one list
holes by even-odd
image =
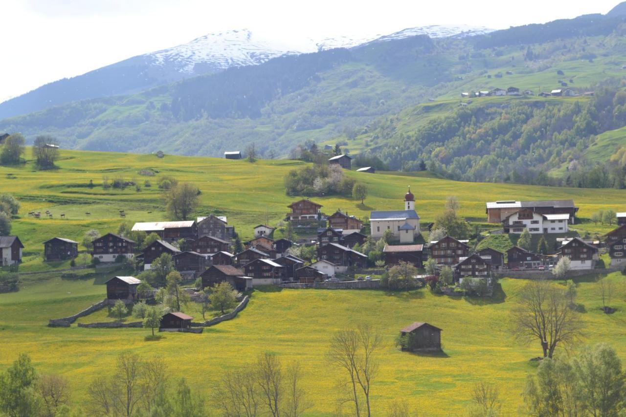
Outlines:
{"label": "distant snow-capped mountain ridge under the pale sky", "polygon": [[312,53],[333,48],[356,48],[426,34],[431,38],[473,36],[490,29],[473,26],[432,25],[404,29],[393,34],[337,36],[285,41],[267,39],[248,29],[210,33],[189,43],[134,56],[73,78],[54,81],[0,103],[0,120],[90,98],[126,95],[166,85],[192,76],[228,68],[258,65],[284,54]]}

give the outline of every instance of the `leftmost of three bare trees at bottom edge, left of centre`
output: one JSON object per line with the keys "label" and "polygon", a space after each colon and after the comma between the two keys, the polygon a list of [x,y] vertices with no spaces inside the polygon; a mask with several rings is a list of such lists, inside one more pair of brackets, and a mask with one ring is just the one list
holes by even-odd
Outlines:
{"label": "leftmost of three bare trees at bottom edge, left of centre", "polygon": [[213,403],[224,417],[255,417],[259,409],[259,393],[253,371],[225,374],[213,391]]}

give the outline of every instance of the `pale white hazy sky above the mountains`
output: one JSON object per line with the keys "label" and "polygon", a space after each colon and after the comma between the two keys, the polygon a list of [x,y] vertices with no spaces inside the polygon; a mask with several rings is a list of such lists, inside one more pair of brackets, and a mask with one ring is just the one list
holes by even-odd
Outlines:
{"label": "pale white hazy sky above the mountains", "polygon": [[[0,0],[0,101],[203,34],[263,38],[393,33],[428,24],[494,29],[607,13],[619,0]],[[511,4],[521,6],[513,8]]]}

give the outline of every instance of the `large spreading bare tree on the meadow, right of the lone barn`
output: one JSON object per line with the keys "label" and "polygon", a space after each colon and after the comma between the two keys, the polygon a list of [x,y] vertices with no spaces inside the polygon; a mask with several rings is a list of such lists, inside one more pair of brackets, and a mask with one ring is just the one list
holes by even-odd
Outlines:
{"label": "large spreading bare tree on the meadow, right of the lone barn", "polygon": [[526,342],[538,340],[544,358],[552,358],[558,345],[568,348],[582,336],[583,323],[570,308],[567,290],[550,282],[526,284],[511,314],[516,338]]}

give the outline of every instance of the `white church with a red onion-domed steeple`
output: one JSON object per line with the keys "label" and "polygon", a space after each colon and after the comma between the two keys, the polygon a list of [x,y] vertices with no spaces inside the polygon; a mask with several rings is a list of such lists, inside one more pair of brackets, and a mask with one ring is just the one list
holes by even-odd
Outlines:
{"label": "white church with a red onion-domed steeple", "polygon": [[385,230],[391,230],[400,243],[413,243],[419,235],[419,215],[415,211],[415,198],[409,192],[404,195],[404,210],[371,212],[369,224],[372,228],[372,237],[379,239]]}

